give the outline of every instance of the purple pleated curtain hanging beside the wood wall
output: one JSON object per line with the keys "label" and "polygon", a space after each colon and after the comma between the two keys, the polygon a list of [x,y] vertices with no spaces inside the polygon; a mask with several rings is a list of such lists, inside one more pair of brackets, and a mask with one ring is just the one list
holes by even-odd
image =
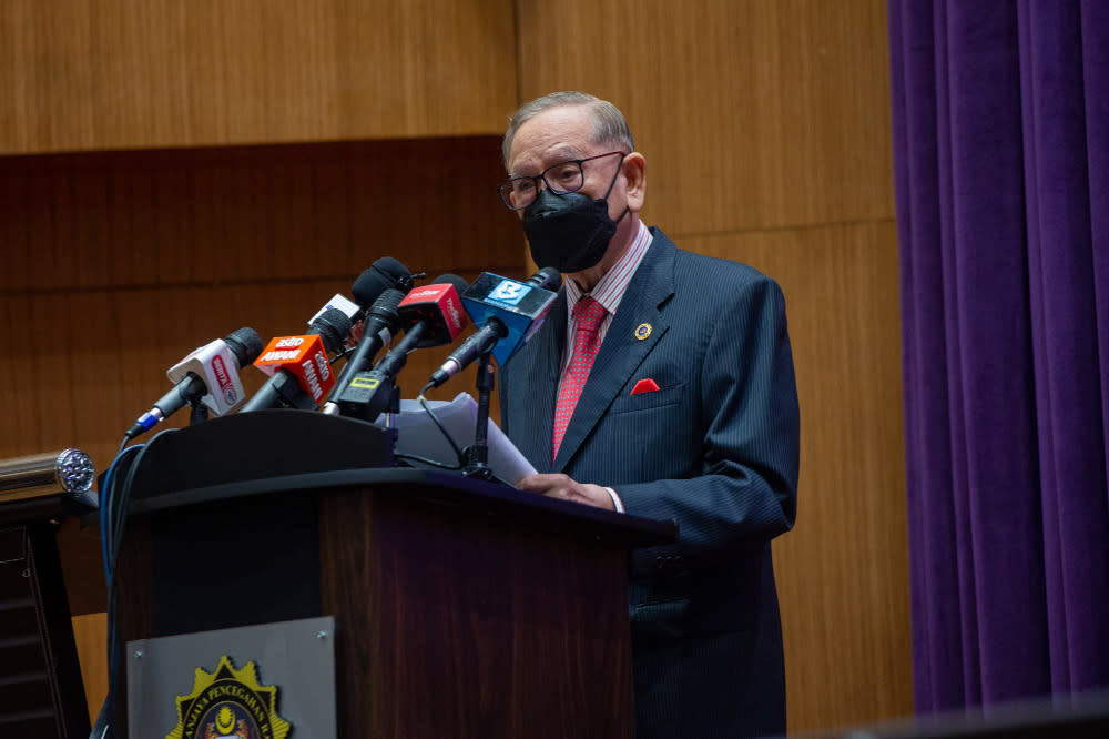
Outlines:
{"label": "purple pleated curtain hanging beside the wood wall", "polygon": [[1109,686],[1109,2],[888,0],[917,713]]}

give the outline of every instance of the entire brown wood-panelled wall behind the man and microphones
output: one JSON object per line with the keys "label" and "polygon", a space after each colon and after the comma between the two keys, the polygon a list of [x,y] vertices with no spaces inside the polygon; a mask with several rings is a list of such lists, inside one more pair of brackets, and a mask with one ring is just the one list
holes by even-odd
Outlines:
{"label": "entire brown wood-panelled wall behind the man and microphones", "polygon": [[[910,713],[885,3],[271,7],[3,3],[0,152],[499,134],[551,90],[612,100],[648,159],[644,219],[786,292],[803,414],[797,529],[775,545],[791,729]],[[0,325],[26,350],[0,357],[0,456],[77,444],[103,468],[185,352],[241,325],[292,333],[376,256],[522,274],[518,226],[444,176],[499,180],[496,138],[470,145],[0,159]]]}

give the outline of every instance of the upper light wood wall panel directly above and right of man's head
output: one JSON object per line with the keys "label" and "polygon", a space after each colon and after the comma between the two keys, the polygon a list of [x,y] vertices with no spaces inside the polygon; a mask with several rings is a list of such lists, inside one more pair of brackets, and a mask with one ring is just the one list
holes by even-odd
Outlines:
{"label": "upper light wood wall panel directly above and right of man's head", "polygon": [[522,100],[578,89],[615,103],[648,161],[650,222],[706,233],[893,216],[882,0],[518,12]]}

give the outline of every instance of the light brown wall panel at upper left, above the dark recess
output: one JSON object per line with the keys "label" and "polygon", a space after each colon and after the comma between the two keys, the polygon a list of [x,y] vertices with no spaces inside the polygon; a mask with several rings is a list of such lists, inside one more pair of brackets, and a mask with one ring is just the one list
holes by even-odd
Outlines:
{"label": "light brown wall panel at upper left, above the dark recess", "polygon": [[495,133],[511,0],[8,0],[0,153]]}

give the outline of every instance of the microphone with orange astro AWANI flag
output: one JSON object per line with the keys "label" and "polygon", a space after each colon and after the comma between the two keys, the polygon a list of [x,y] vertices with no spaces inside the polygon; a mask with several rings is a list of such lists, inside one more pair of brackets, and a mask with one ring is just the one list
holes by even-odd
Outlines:
{"label": "microphone with orange astro AWANI flag", "polygon": [[254,361],[269,379],[240,413],[276,407],[313,409],[335,384],[328,354],[343,348],[354,324],[343,311],[327,308],[298,336],[277,336]]}

